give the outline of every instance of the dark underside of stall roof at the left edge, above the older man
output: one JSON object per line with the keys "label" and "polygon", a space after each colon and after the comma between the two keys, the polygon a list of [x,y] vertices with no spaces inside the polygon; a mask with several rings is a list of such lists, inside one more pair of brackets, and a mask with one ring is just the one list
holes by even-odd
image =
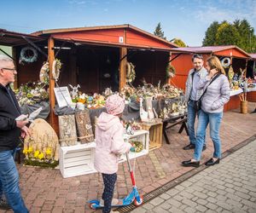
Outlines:
{"label": "dark underside of stall roof at the left edge, above the older man", "polygon": [[31,34],[25,34],[20,32],[10,32],[4,29],[0,29],[0,45],[4,46],[18,46],[26,44],[24,37],[28,38],[32,42],[42,41],[44,37],[38,37]]}

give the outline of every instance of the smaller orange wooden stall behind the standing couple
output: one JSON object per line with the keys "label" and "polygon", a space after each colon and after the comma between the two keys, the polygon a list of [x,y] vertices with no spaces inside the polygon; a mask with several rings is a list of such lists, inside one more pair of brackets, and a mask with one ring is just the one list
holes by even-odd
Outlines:
{"label": "smaller orange wooden stall behind the standing couple", "polygon": [[[237,74],[241,74],[241,70],[247,68],[247,62],[248,59],[250,59],[250,55],[235,45],[172,49],[172,66],[174,66],[176,69],[176,76],[172,78],[172,83],[182,89],[185,89],[185,83],[189,70],[193,67],[191,61],[191,56],[193,54],[203,55],[204,60],[207,60],[207,58],[212,55],[218,56],[218,59],[221,61],[230,60],[230,65]],[[228,73],[229,67],[225,68],[224,70],[226,73]],[[241,92],[241,89],[230,91],[230,101],[224,106],[224,111],[240,107],[240,99],[238,94]]]}

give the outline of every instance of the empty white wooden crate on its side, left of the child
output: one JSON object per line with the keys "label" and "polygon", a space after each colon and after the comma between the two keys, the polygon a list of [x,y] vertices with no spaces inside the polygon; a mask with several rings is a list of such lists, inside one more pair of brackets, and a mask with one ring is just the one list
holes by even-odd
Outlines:
{"label": "empty white wooden crate on its side, left of the child", "polygon": [[60,148],[61,175],[66,177],[82,176],[96,172],[93,165],[95,142]]}

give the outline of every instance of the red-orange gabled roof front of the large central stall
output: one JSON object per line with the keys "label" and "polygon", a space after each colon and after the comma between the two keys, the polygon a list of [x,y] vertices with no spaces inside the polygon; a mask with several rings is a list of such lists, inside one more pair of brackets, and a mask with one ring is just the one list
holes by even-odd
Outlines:
{"label": "red-orange gabled roof front of the large central stall", "polygon": [[170,51],[176,44],[156,37],[131,25],[90,26],[77,28],[52,29],[34,32],[32,35],[53,37],[73,43],[130,47],[137,49],[160,49]]}

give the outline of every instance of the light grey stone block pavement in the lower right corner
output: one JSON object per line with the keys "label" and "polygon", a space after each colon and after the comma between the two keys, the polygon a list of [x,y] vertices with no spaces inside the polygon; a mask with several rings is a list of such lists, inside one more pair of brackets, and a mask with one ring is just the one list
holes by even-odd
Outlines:
{"label": "light grey stone block pavement in the lower right corner", "polygon": [[132,213],[256,212],[256,140]]}

